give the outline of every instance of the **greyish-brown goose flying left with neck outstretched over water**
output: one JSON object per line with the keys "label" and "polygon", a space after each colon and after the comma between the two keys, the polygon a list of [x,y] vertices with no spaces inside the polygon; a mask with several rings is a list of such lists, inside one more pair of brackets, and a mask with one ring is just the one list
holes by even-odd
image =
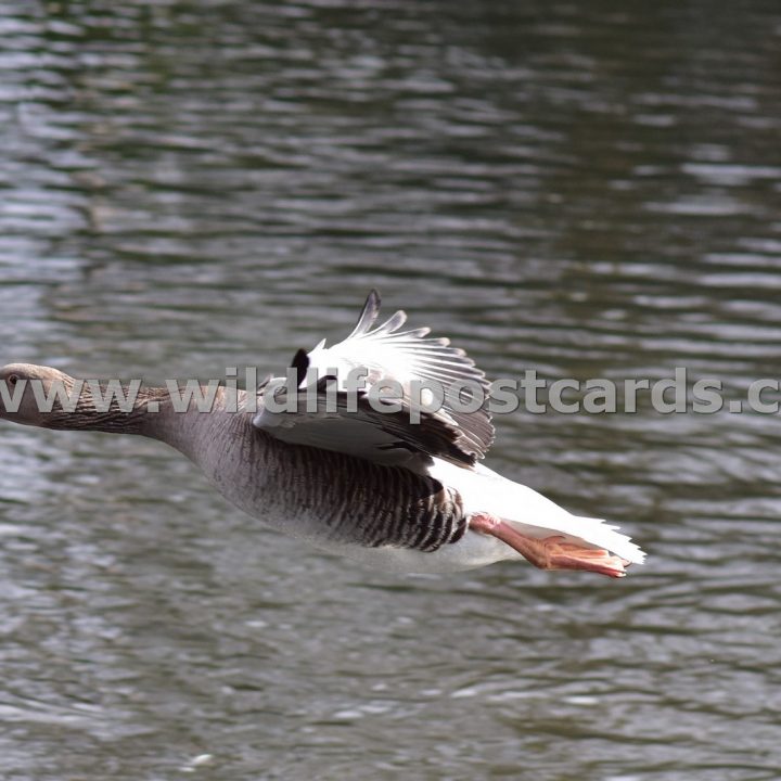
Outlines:
{"label": "greyish-brown goose flying left with neck outstretched over water", "polygon": [[[177,410],[169,382],[121,386],[135,389],[128,404],[101,406],[91,382],[10,363],[0,419],[158,439],[247,514],[369,567],[446,573],[525,559],[619,578],[643,562],[616,526],[483,465],[494,440],[485,374],[430,329],[402,330],[404,311],[376,325],[379,313],[372,291],[346,340],[299,349],[284,377],[256,392],[219,384],[207,410],[194,396]],[[465,387],[479,406],[464,404]]]}

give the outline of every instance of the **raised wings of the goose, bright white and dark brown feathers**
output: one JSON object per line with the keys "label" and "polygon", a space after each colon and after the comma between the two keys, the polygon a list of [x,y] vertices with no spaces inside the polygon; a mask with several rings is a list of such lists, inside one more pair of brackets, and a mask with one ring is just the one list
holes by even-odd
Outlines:
{"label": "raised wings of the goose, bright white and dark brown feathers", "polygon": [[286,379],[258,389],[254,425],[385,464],[423,466],[438,457],[473,465],[494,439],[485,374],[430,329],[401,331],[404,311],[374,328],[379,313],[372,291],[346,340],[298,350]]}

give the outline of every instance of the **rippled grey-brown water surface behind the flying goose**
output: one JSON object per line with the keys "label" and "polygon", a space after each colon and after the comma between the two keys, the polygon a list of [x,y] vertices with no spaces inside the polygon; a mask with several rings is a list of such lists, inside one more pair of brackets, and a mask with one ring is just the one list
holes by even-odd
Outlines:
{"label": "rippled grey-brown water surface behind the flying goose", "polygon": [[[494,376],[779,376],[777,3],[7,2],[0,362],[273,370],[368,289]],[[767,395],[768,398],[772,394]],[[778,778],[777,415],[497,420],[650,553],[367,572],[2,425],[4,778]]]}

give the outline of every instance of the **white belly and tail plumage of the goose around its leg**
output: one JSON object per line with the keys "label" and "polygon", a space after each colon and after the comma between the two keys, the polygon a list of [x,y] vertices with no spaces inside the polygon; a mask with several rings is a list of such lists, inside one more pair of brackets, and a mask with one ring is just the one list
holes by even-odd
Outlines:
{"label": "white belly and tail plumage of the goose around its leg", "polygon": [[[599,518],[573,515],[541,494],[513,483],[486,466],[478,464],[473,470],[465,470],[435,459],[430,473],[460,492],[468,515],[475,512],[490,513],[511,523],[528,537],[562,535],[569,542],[603,548],[636,564],[642,564],[645,559],[645,553],[629,537],[619,534],[616,526]],[[445,545],[430,553],[359,546],[340,546],[334,552],[371,567],[408,573],[453,572],[522,558],[496,537],[470,530],[458,542]]]}

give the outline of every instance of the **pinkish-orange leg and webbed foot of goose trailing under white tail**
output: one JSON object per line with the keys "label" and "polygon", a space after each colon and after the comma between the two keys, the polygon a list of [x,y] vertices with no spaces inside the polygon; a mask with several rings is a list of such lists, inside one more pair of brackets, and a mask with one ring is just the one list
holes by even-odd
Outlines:
{"label": "pinkish-orange leg and webbed foot of goose trailing under white tail", "polygon": [[567,542],[562,535],[538,539],[521,534],[511,524],[488,513],[473,513],[469,517],[473,532],[491,535],[516,550],[540,569],[582,569],[607,577],[624,577],[630,562],[601,548],[587,548]]}

